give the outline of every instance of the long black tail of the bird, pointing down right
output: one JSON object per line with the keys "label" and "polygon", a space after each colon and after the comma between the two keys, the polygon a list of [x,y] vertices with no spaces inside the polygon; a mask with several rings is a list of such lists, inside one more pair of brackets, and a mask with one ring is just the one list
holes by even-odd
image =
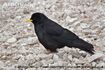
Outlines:
{"label": "long black tail of the bird, pointing down right", "polygon": [[75,47],[75,48],[79,48],[83,51],[86,51],[90,54],[94,54],[94,47],[92,44],[82,40],[82,39],[77,39],[77,40],[74,40],[72,43],[71,43],[71,46],[72,47]]}

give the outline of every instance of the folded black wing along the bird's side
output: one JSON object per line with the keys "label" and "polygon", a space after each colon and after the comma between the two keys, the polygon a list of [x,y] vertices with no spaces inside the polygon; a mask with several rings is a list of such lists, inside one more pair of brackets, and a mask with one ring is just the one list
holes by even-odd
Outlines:
{"label": "folded black wing along the bird's side", "polygon": [[63,28],[52,20],[46,22],[45,31],[50,37],[60,43],[70,42],[71,40],[75,40],[78,38],[76,34]]}

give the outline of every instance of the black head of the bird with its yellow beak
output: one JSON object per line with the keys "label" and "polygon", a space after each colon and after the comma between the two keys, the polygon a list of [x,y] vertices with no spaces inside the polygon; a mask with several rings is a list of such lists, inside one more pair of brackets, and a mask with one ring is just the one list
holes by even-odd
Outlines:
{"label": "black head of the bird with its yellow beak", "polygon": [[26,22],[32,22],[33,24],[39,24],[43,19],[45,19],[46,16],[43,13],[33,13],[31,18],[29,20],[26,20]]}

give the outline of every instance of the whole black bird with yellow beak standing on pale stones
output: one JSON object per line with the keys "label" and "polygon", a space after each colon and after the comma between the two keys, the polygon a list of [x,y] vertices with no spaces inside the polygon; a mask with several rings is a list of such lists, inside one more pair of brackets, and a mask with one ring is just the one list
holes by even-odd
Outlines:
{"label": "whole black bird with yellow beak standing on pale stones", "polygon": [[43,13],[37,12],[32,14],[28,21],[34,24],[36,35],[40,43],[47,50],[57,52],[57,48],[68,46],[94,54],[94,47],[92,44],[80,39],[76,34],[63,28]]}

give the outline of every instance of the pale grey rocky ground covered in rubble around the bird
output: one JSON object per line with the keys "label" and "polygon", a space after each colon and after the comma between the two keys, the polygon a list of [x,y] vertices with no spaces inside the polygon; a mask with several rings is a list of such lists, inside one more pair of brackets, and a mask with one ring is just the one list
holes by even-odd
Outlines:
{"label": "pale grey rocky ground covered in rubble around the bird", "polygon": [[[24,21],[34,12],[92,43],[98,54],[67,47],[47,54]],[[105,70],[104,54],[104,0],[0,0],[0,70]]]}

